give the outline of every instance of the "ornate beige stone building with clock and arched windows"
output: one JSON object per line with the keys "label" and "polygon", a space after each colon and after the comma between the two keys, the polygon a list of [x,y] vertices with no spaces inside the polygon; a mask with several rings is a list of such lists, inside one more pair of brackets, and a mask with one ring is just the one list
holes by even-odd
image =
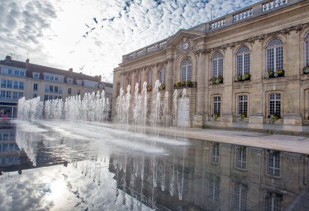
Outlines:
{"label": "ornate beige stone building with clock and arched windows", "polygon": [[113,99],[120,87],[159,79],[170,96],[187,88],[192,127],[305,131],[308,48],[309,1],[261,1],[123,55]]}

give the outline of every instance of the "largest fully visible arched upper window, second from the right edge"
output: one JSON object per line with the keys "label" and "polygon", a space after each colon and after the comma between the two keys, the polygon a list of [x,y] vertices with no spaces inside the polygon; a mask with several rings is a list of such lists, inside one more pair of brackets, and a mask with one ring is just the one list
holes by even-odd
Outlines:
{"label": "largest fully visible arched upper window, second from the right edge", "polygon": [[283,42],[281,39],[275,38],[269,41],[266,50],[266,71],[275,71],[284,69],[283,64]]}

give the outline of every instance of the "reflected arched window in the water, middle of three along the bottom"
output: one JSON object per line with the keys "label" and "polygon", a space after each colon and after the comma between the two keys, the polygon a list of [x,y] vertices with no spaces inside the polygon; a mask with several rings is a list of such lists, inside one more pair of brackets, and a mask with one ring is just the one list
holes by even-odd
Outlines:
{"label": "reflected arched window in the water, middle of three along the bottom", "polygon": [[239,183],[233,185],[233,210],[247,210],[247,186]]}

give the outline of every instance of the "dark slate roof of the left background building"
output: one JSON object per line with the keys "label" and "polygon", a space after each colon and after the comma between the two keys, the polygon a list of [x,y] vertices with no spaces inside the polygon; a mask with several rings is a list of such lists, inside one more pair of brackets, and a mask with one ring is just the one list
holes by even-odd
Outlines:
{"label": "dark slate roof of the left background building", "polygon": [[[0,64],[10,66],[10,67],[19,67],[23,69],[27,69],[26,77],[33,78],[32,73],[37,72],[40,74],[40,79],[44,80],[43,73],[57,74],[64,76],[64,83],[67,83],[67,78],[73,79],[73,84],[76,84],[76,80],[88,80],[88,81],[96,81],[101,82],[101,76],[88,76],[82,73],[77,73],[64,69],[57,69],[54,67],[46,67],[39,64],[31,64],[26,62],[20,62],[17,60],[11,60],[10,56],[6,56],[6,60],[0,60]],[[106,83],[105,83],[106,84]],[[113,84],[111,84],[113,87]]]}

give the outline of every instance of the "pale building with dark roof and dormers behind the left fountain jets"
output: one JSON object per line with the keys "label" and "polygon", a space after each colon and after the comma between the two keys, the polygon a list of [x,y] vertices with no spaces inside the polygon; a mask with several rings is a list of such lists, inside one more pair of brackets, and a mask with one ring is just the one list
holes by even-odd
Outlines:
{"label": "pale building with dark roof and dormers behind the left fountain jets", "polygon": [[29,100],[41,97],[41,100],[65,99],[88,92],[106,90],[111,99],[113,84],[101,81],[101,76],[88,76],[53,67],[45,67],[26,62],[12,60],[6,56],[0,61],[0,115],[16,116],[17,101],[20,97]]}

